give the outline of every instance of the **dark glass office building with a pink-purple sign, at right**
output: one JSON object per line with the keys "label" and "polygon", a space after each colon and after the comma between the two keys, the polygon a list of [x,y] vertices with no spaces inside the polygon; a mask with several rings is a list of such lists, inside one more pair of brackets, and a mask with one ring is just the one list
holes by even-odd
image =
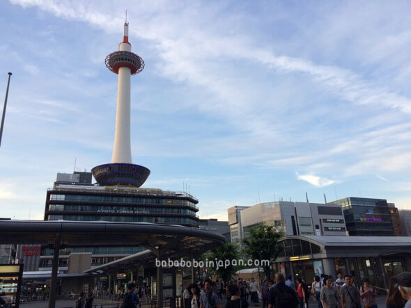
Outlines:
{"label": "dark glass office building with a pink-purple sign, at right", "polygon": [[387,200],[346,197],[330,204],[342,206],[350,236],[394,236]]}

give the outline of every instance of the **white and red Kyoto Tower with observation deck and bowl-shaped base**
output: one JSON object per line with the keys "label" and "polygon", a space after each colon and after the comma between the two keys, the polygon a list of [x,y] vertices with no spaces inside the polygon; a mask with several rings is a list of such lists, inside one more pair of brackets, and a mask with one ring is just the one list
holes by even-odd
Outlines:
{"label": "white and red Kyoto Tower with observation deck and bowl-shaped base", "polygon": [[116,133],[111,163],[98,165],[91,172],[102,186],[126,185],[140,187],[144,184],[150,170],[142,165],[134,165],[131,159],[130,142],[130,79],[144,69],[143,59],[131,52],[128,42],[128,23],[124,24],[123,42],[118,51],[106,57],[106,66],[118,74]]}

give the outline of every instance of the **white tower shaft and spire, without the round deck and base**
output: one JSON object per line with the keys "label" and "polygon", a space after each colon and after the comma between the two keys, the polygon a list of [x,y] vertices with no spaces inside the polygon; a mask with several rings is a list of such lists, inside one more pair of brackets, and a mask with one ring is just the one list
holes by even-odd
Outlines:
{"label": "white tower shaft and spire, without the round deck and base", "polygon": [[[124,25],[123,42],[119,51],[131,51],[128,42],[128,24]],[[131,102],[131,70],[129,67],[118,69],[118,91],[116,111],[116,133],[111,163],[132,163],[130,140],[130,102]]]}

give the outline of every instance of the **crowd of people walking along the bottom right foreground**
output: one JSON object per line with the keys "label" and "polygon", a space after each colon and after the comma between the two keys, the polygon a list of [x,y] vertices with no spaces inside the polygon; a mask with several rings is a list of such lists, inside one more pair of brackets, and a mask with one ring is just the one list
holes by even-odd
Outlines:
{"label": "crowd of people walking along the bottom right foreground", "polygon": [[[306,308],[316,303],[318,308],[377,308],[377,290],[368,278],[362,283],[354,276],[337,274],[315,276],[311,287],[304,279],[275,274],[274,280],[265,279],[261,286],[251,278],[250,281],[238,279],[223,283],[218,280],[189,284],[184,292],[185,308],[247,308],[258,306],[262,300],[263,308]],[[411,308],[411,273],[403,272],[389,280],[387,308]],[[312,297],[314,302],[309,298]],[[250,300],[250,302],[249,302]]]}

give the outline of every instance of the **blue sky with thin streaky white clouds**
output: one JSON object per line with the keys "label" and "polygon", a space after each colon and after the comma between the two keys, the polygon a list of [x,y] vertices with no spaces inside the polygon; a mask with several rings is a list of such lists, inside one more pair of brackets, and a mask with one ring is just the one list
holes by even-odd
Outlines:
{"label": "blue sky with thin streaky white clouds", "polygon": [[[114,3],[115,2],[115,3]],[[0,3],[2,217],[42,219],[57,172],[111,161],[124,11],[132,157],[201,217],[358,196],[411,209],[409,1]]]}

